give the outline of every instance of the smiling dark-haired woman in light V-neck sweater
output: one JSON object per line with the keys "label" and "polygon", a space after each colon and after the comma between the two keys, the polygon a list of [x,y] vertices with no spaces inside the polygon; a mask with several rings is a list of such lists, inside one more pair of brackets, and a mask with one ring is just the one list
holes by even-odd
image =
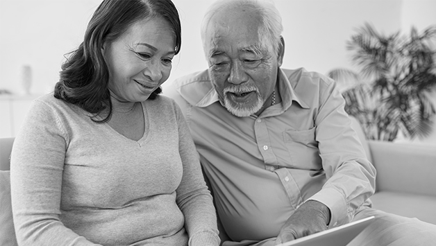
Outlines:
{"label": "smiling dark-haired woman in light V-neck sweater", "polygon": [[158,95],[181,49],[170,0],[105,0],[11,159],[19,245],[219,245],[180,109]]}

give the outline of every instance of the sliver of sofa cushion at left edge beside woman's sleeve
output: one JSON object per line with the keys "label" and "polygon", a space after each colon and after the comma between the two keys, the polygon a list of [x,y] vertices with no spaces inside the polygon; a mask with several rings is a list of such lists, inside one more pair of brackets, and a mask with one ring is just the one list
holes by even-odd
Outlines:
{"label": "sliver of sofa cushion at left edge beside woman's sleeve", "polygon": [[0,245],[16,246],[12,206],[10,203],[9,171],[0,170]]}

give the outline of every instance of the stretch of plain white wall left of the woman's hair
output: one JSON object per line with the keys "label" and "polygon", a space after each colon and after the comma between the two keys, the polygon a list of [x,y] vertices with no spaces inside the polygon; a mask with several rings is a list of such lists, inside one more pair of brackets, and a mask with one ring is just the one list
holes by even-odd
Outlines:
{"label": "stretch of plain white wall left of the woman's hair", "polygon": [[0,89],[22,93],[21,69],[33,71],[33,93],[53,90],[63,55],[85,33],[99,0],[0,0]]}

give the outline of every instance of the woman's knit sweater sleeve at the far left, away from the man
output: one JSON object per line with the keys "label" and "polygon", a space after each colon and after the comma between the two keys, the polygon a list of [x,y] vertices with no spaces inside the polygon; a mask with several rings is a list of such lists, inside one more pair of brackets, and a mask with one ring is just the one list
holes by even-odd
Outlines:
{"label": "woman's knit sweater sleeve at the far left, away from the man", "polygon": [[19,245],[95,245],[60,222],[67,134],[56,110],[35,100],[12,148],[12,213]]}

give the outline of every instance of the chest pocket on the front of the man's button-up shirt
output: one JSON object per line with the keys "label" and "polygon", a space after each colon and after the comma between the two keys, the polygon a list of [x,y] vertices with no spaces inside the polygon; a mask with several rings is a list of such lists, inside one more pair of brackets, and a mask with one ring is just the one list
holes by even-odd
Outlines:
{"label": "chest pocket on the front of the man's button-up shirt", "polygon": [[309,130],[286,130],[283,141],[290,154],[290,167],[304,170],[322,168],[315,128]]}

